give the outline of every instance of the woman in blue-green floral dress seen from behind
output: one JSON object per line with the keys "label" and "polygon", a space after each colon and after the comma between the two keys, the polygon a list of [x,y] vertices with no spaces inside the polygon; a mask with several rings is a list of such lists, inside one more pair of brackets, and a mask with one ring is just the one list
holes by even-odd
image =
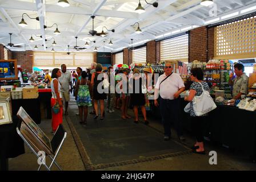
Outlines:
{"label": "woman in blue-green floral dress seen from behind", "polygon": [[87,125],[88,106],[91,106],[91,98],[89,92],[90,81],[86,79],[87,73],[82,71],[81,80],[75,85],[75,100],[79,109],[79,118],[83,126]]}

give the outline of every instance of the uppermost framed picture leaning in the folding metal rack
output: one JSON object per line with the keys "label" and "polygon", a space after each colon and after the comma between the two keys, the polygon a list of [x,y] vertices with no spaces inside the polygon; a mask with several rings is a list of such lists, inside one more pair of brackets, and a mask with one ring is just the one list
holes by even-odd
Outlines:
{"label": "uppermost framed picture leaning in the folding metal rack", "polygon": [[27,128],[33,132],[35,138],[40,140],[40,142],[43,143],[43,145],[47,147],[49,151],[52,151],[50,139],[46,136],[45,133],[43,133],[37,123],[33,121],[33,119],[29,116],[29,114],[27,114],[23,107],[19,107],[17,116],[26,124]]}

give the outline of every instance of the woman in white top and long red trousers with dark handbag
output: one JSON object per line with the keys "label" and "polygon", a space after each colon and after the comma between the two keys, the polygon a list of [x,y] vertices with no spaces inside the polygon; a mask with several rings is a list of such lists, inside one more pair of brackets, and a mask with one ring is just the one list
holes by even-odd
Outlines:
{"label": "woman in white top and long red trousers with dark handbag", "polygon": [[51,108],[52,108],[52,119],[51,119],[51,127],[52,133],[58,129],[58,126],[62,123],[62,113],[63,113],[63,105],[62,105],[62,96],[61,96],[61,84],[59,84],[58,78],[61,76],[61,69],[54,68],[51,73]]}

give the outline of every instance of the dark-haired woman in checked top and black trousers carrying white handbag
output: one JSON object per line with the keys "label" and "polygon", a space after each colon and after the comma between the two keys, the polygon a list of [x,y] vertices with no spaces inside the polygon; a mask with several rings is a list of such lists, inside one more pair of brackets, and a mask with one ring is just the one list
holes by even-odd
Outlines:
{"label": "dark-haired woman in checked top and black trousers carrying white handbag", "polygon": [[191,81],[194,81],[194,82],[190,86],[189,96],[184,98],[185,101],[190,102],[190,117],[191,117],[192,130],[195,138],[197,139],[197,142],[194,144],[192,149],[193,149],[193,152],[197,154],[205,154],[205,148],[203,146],[203,126],[205,124],[205,121],[206,121],[205,118],[207,114],[197,116],[197,114],[194,111],[192,101],[195,96],[201,96],[201,94],[203,93],[203,90],[210,92],[210,88],[207,82],[204,82],[202,80],[203,80],[202,69],[201,68],[191,69]]}

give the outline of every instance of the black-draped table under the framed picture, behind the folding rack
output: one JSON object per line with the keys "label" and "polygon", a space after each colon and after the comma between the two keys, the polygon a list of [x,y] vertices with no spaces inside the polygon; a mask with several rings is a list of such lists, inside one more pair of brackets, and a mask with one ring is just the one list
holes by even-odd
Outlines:
{"label": "black-draped table under the framed picture, behind the folding rack", "polygon": [[0,171],[8,170],[8,158],[25,153],[24,142],[16,131],[18,121],[13,116],[13,123],[0,125]]}

